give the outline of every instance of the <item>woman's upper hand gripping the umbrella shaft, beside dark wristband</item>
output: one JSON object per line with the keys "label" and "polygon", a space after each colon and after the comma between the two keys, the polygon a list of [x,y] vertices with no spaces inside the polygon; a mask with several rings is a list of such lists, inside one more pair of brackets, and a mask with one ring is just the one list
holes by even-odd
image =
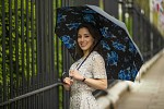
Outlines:
{"label": "woman's upper hand gripping the umbrella shaft, beside dark wristband", "polygon": [[70,71],[70,74],[69,74],[71,77],[78,80],[78,81],[82,81],[84,77],[79,73],[78,70],[72,70]]}

